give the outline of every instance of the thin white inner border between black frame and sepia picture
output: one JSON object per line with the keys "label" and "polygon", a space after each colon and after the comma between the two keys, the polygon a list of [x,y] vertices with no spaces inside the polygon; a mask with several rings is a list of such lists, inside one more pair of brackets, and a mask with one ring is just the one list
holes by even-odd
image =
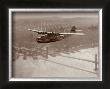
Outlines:
{"label": "thin white inner border between black frame and sepia picture", "polygon": [[[99,79],[96,78],[78,78],[78,79],[69,79],[69,78],[12,78],[12,12],[71,12],[71,11],[83,11],[83,12],[99,12]],[[102,9],[101,8],[94,8],[94,9],[26,9],[26,8],[9,8],[9,81],[102,81]]]}

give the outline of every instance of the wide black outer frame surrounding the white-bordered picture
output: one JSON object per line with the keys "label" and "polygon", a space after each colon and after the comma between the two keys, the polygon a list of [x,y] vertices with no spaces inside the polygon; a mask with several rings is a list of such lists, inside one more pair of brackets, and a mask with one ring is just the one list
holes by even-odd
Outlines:
{"label": "wide black outer frame surrounding the white-bordered picture", "polygon": [[[9,82],[8,81],[8,9],[9,8],[102,8],[103,9],[103,81],[77,81],[77,82]],[[72,0],[36,0],[36,1],[22,1],[22,0],[9,0],[3,1],[0,5],[0,88],[2,89],[35,89],[35,88],[74,88],[74,89],[110,89],[110,50],[109,50],[109,30],[110,26],[110,11],[109,3],[103,1],[72,1]]]}

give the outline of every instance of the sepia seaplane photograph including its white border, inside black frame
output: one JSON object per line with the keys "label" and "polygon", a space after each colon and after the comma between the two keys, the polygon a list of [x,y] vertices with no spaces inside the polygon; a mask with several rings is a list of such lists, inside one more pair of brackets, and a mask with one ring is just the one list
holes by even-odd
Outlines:
{"label": "sepia seaplane photograph including its white border, inside black frame", "polygon": [[102,81],[102,9],[9,9],[9,81]]}

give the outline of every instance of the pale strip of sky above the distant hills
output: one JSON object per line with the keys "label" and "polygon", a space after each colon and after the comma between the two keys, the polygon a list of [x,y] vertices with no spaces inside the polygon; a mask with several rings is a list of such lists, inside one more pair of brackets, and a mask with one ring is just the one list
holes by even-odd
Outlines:
{"label": "pale strip of sky above the distant hills", "polygon": [[49,17],[59,17],[59,18],[75,18],[75,17],[98,17],[97,12],[92,12],[92,13],[58,13],[58,12],[53,12],[53,13],[45,13],[45,12],[14,12],[14,18],[15,19],[25,19],[25,18],[49,18]]}

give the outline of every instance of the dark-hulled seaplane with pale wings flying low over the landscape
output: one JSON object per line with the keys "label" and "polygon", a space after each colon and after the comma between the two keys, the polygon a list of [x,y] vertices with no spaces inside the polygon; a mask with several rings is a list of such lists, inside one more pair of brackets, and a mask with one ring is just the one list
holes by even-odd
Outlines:
{"label": "dark-hulled seaplane with pale wings flying low over the landscape", "polygon": [[28,31],[35,32],[37,34],[41,34],[40,37],[36,37],[36,41],[38,43],[50,43],[63,40],[67,35],[85,35],[84,33],[78,33],[75,27],[71,29],[69,33],[57,33],[57,32],[46,32],[46,31],[38,31],[36,29],[28,29]]}

